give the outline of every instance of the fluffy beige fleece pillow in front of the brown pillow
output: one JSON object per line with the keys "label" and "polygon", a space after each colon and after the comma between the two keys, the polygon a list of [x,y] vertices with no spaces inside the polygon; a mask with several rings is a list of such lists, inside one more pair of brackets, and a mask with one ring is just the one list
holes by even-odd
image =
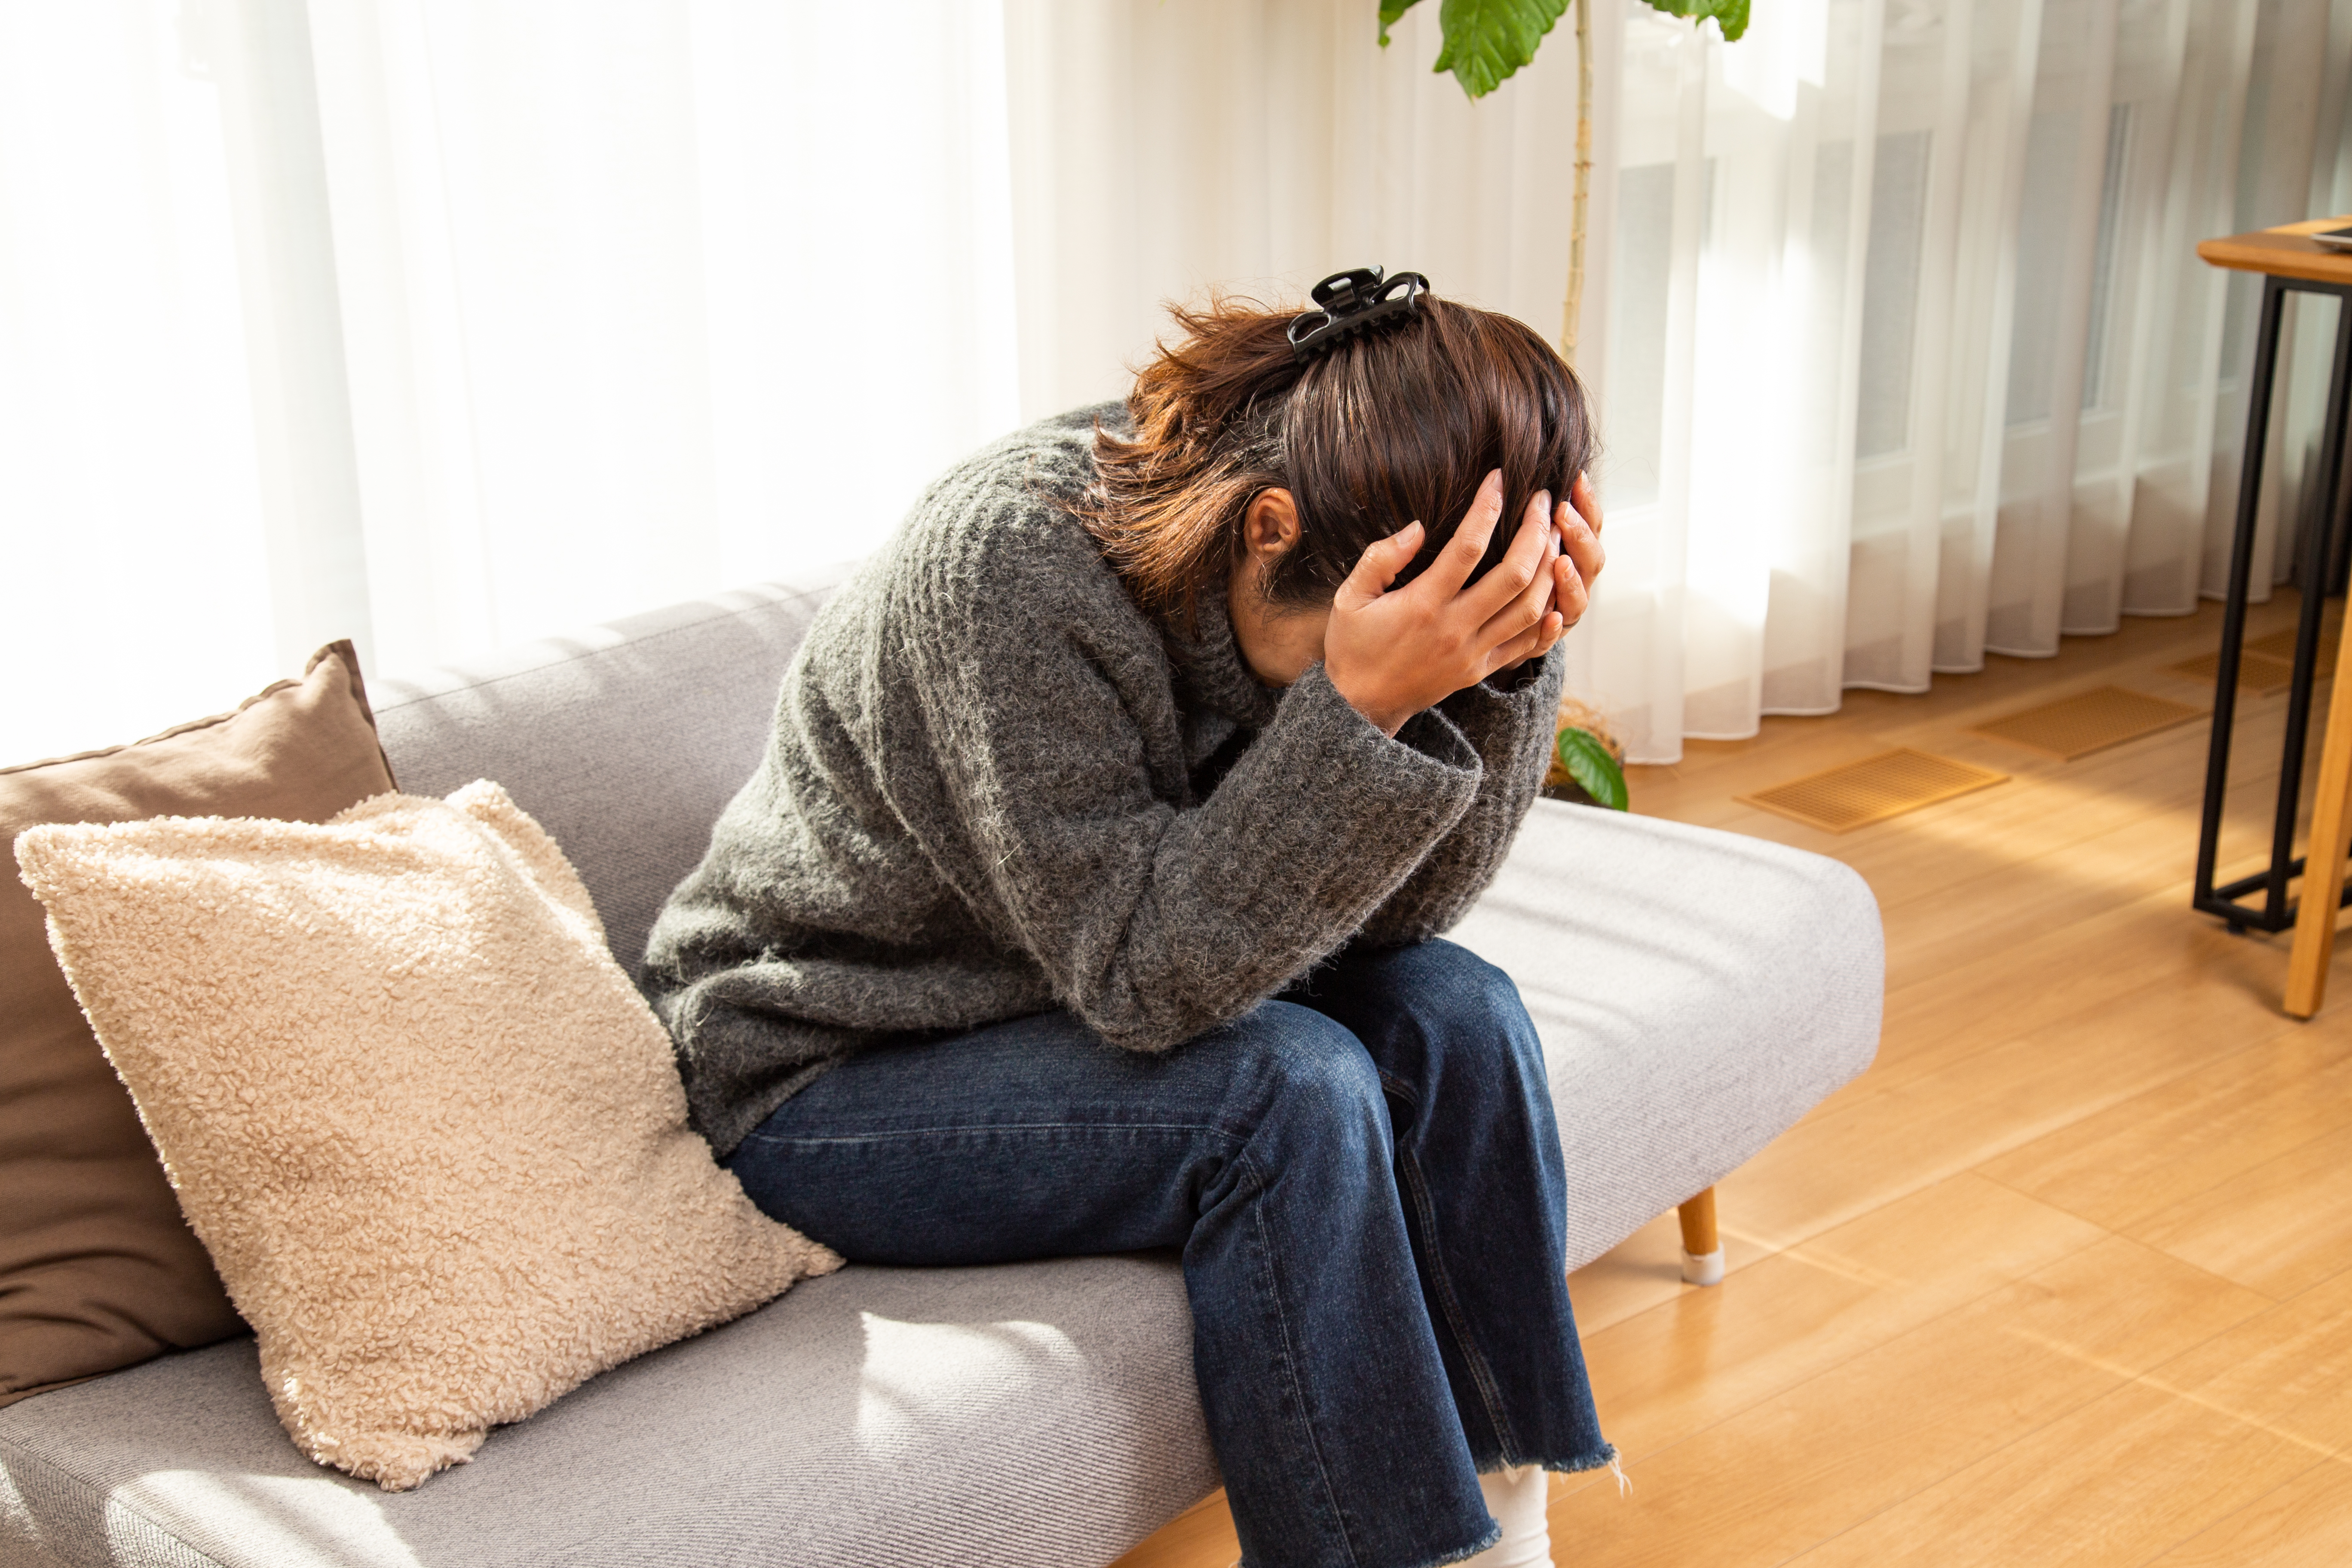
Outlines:
{"label": "fluffy beige fleece pillow in front of the brown pillow", "polygon": [[33,827],[16,860],[313,1460],[412,1488],[840,1267],[687,1128],[661,1023],[499,785]]}

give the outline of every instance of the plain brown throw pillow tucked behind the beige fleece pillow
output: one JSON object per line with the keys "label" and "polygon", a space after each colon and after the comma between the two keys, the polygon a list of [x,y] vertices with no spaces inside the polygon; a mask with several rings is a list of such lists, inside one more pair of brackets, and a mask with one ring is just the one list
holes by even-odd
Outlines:
{"label": "plain brown throw pillow tucked behind the beige fleece pillow", "polygon": [[[0,846],[38,823],[325,823],[393,790],[348,642],[235,712],[0,769]],[[0,1406],[245,1324],[179,1213],[122,1079],[0,856]]]}

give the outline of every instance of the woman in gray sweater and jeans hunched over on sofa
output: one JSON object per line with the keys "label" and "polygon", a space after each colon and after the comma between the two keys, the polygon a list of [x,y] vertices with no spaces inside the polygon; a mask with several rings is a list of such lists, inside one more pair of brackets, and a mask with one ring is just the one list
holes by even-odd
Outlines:
{"label": "woman in gray sweater and jeans hunched over on sofa", "polygon": [[851,1260],[1181,1248],[1254,1568],[1548,1563],[1543,1472],[1613,1460],[1559,1140],[1437,936],[1543,773],[1592,435],[1508,317],[1317,303],[1178,310],[1124,407],[931,487],[647,987],[746,1192]]}

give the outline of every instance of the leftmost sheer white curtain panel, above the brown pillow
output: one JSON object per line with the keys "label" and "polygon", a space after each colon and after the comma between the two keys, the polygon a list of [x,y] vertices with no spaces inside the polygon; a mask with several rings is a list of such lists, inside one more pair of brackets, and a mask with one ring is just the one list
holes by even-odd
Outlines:
{"label": "leftmost sheer white curtain panel, above the brown pillow", "polygon": [[278,672],[216,96],[169,5],[0,5],[9,762]]}

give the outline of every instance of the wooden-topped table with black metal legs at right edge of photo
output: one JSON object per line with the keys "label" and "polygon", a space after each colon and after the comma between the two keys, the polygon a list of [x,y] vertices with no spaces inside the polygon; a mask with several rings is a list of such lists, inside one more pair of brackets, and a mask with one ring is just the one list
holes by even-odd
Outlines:
{"label": "wooden-topped table with black metal legs at right edge of photo", "polygon": [[[2328,545],[2333,541],[2333,517],[2296,545],[2296,571],[2303,583],[2303,616],[2296,623],[2293,682],[2286,698],[2286,752],[2279,759],[2279,806],[2272,820],[2270,865],[2253,877],[2213,886],[2213,865],[2220,849],[2223,792],[2230,783],[2230,722],[2237,715],[2237,668],[2239,642],[2246,635],[2246,590],[2253,571],[2253,520],[2263,489],[2263,449],[2270,437],[2270,395],[2279,364],[2279,322],[2288,294],[2333,294],[2336,313],[2336,369],[2328,378],[2328,414],[2319,447],[2321,494],[2333,508],[2345,458],[2345,404],[2352,397],[2352,252],[2328,249],[2307,235],[2321,228],[2352,226],[2352,219],[2317,219],[2310,223],[2286,223],[2263,228],[2227,240],[2206,240],[2197,256],[2211,266],[2263,275],[2263,317],[2253,341],[2253,383],[2246,397],[2246,451],[2237,484],[2237,534],[2230,541],[2230,590],[2223,599],[2220,668],[2213,675],[2213,743],[2206,755],[2204,823],[2197,835],[2197,891],[2194,905],[2206,914],[2220,914],[2232,929],[2284,931],[2296,922],[2296,907],[2286,900],[2288,879],[2305,872],[2305,858],[2296,851],[2296,806],[2303,792],[2303,748],[2312,712],[2312,670],[2319,663],[2319,616],[2326,604]],[[2345,646],[2352,656],[2352,644]],[[2307,877],[2300,910],[2305,924],[2319,910],[2319,919],[2333,933],[2336,910],[2343,900],[2345,882],[2345,788],[2352,783],[2352,663],[2338,665],[2336,696],[2326,745],[2343,750],[2340,773],[2333,780],[2321,757],[2319,795],[2314,811],[2326,820],[2312,823],[2310,865],[2319,867]],[[2326,830],[2326,832],[2321,832]],[[2239,903],[2260,891],[2260,907]],[[2296,938],[2298,954],[2303,936]],[[2319,978],[2326,978],[2321,954]],[[2317,997],[2312,999],[2317,1009]],[[2288,1009],[2293,1011],[2293,1009]],[[2307,1016],[2307,1013],[2303,1013]]]}

